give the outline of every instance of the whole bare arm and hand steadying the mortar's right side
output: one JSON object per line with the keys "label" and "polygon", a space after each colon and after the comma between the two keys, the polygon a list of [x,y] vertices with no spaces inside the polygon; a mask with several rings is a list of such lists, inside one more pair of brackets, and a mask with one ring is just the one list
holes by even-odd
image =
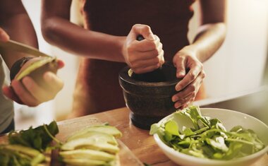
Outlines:
{"label": "whole bare arm and hand steadying the mortar's right side", "polygon": [[212,57],[226,35],[225,0],[200,0],[200,6],[202,20],[195,40],[173,57],[173,64],[177,68],[176,76],[183,78],[176,85],[178,93],[172,97],[176,108],[187,107],[195,100],[205,78],[202,62]]}

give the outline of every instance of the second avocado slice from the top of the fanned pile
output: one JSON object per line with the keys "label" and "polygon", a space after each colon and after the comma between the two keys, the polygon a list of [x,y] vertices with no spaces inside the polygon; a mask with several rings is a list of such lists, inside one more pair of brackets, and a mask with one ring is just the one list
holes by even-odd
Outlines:
{"label": "second avocado slice from the top of the fanned pile", "polygon": [[105,140],[107,143],[111,143],[113,145],[118,145],[116,138],[110,134],[105,134],[99,131],[87,131],[83,134],[77,134],[75,136],[72,136],[71,138],[68,138],[68,141],[72,141],[78,138],[94,138],[94,139],[102,139]]}

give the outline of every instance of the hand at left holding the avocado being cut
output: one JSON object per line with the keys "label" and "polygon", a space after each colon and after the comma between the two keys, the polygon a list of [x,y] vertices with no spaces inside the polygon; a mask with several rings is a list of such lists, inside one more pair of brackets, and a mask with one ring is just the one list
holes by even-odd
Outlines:
{"label": "hand at left holding the avocado being cut", "polygon": [[[33,58],[27,61],[24,65],[35,61]],[[61,69],[64,64],[63,61],[57,60],[58,68]],[[35,107],[42,102],[47,102],[54,99],[57,93],[63,88],[63,81],[51,71],[44,72],[43,79],[46,85],[38,85],[32,78],[25,76],[21,81],[15,79],[11,81],[10,86],[2,88],[4,95],[20,104]]]}

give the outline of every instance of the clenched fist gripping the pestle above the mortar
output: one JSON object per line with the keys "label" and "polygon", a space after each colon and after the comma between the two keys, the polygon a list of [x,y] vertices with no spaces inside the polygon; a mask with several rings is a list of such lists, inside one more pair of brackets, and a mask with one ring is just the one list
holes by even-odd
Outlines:
{"label": "clenched fist gripping the pestle above the mortar", "polygon": [[[145,40],[138,41],[138,35]],[[163,45],[148,25],[135,24],[123,46],[123,57],[134,73],[154,71],[164,64]]]}

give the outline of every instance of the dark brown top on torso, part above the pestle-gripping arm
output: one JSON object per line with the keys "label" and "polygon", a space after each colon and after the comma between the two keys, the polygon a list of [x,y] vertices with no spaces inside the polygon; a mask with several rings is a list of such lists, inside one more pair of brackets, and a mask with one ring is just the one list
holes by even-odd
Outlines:
{"label": "dark brown top on torso, part above the pestle-gripping arm", "polygon": [[127,36],[133,25],[149,25],[159,36],[168,61],[188,45],[188,23],[193,0],[83,0],[85,28]]}

